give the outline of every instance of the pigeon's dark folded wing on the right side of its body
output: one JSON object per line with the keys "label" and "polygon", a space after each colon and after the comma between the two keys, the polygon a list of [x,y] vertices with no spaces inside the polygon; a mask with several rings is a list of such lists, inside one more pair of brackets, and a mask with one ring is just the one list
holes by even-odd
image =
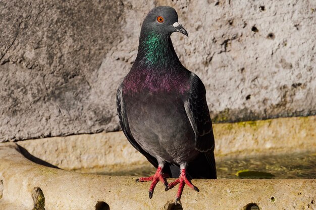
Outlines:
{"label": "pigeon's dark folded wing on the right side of its body", "polygon": [[214,134],[205,98],[206,91],[202,81],[194,73],[191,73],[190,83],[185,110],[195,132],[195,149],[205,153],[214,149]]}

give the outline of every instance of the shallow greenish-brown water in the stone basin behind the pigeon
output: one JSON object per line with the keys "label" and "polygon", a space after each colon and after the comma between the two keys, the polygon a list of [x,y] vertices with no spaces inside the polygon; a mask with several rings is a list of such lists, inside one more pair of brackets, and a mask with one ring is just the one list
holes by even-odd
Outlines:
{"label": "shallow greenish-brown water in the stone basin behind the pigeon", "polygon": [[[116,168],[119,168],[119,170],[97,168],[91,170],[85,169],[81,172],[113,176],[150,176],[155,172],[155,168],[149,163]],[[315,179],[316,153],[227,159],[217,161],[216,168],[218,178],[220,179]],[[237,176],[236,173],[242,170],[248,170],[249,172],[241,172],[239,176]]]}

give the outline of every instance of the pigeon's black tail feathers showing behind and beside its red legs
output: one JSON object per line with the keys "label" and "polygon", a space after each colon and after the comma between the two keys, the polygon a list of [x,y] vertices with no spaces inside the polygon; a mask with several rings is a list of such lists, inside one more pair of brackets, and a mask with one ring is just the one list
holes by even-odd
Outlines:
{"label": "pigeon's black tail feathers showing behind and beside its red legs", "polygon": [[[180,166],[166,164],[164,173],[169,174],[172,178],[180,176]],[[188,164],[187,176],[189,179],[216,179],[216,164],[214,151],[200,153],[194,161]]]}

